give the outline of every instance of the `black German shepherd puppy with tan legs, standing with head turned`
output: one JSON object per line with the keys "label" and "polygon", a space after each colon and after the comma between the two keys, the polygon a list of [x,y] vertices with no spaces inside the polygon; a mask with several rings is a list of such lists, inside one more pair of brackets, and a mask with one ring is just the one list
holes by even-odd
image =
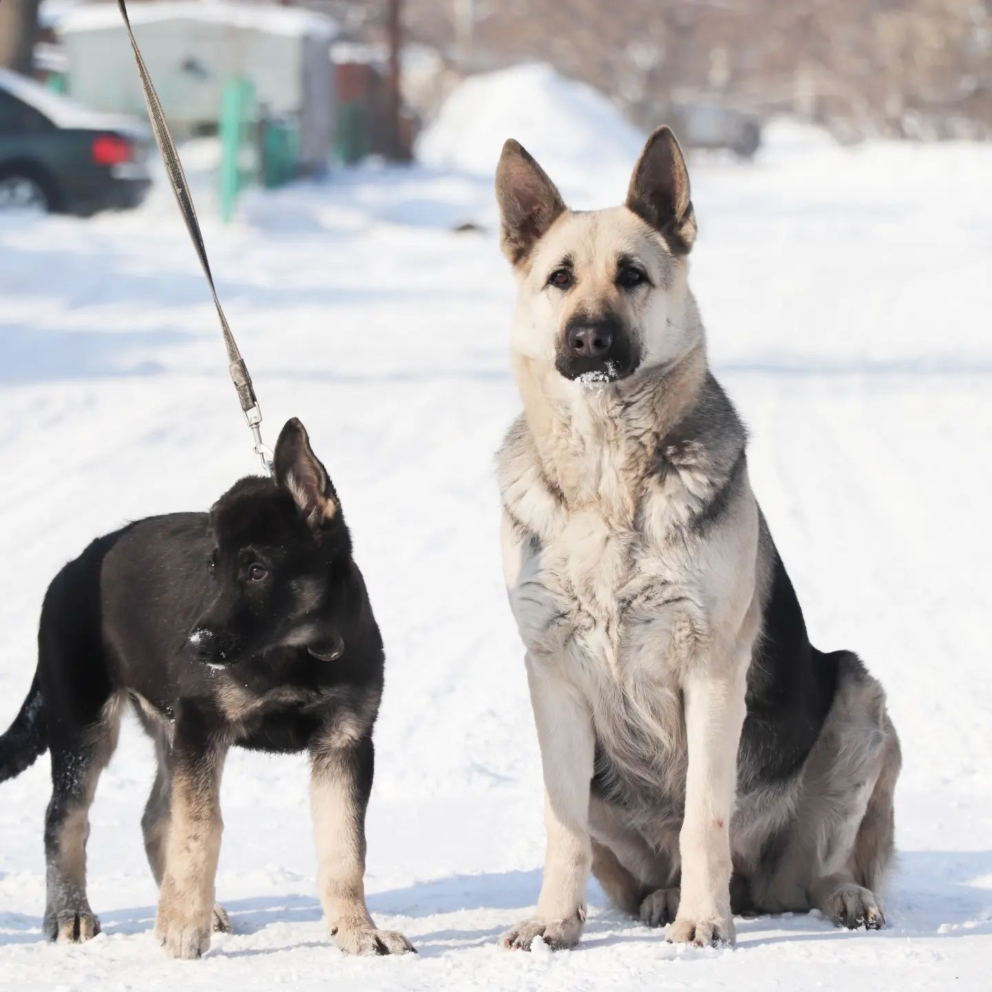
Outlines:
{"label": "black German shepherd puppy with tan legs, standing with head turned", "polygon": [[159,768],[142,819],[161,888],[156,934],[198,957],[211,930],[220,776],[231,745],[308,750],[318,886],[334,943],[413,950],[365,904],[365,808],[383,645],[351,540],[303,425],[290,421],[275,479],[249,477],[205,513],[150,517],[94,541],[49,587],[35,680],[0,738],[0,781],[52,752],[45,822],[46,933],[86,940],[88,810],[131,702]]}

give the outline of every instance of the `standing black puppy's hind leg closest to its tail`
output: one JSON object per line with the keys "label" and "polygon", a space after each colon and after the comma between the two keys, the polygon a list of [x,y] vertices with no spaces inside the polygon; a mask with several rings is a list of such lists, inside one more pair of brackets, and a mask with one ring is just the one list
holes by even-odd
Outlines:
{"label": "standing black puppy's hind leg closest to its tail", "polygon": [[100,923],[86,898],[86,840],[89,806],[100,772],[117,745],[120,705],[111,696],[97,720],[52,735],[52,800],[45,816],[46,935],[60,943],[88,940]]}

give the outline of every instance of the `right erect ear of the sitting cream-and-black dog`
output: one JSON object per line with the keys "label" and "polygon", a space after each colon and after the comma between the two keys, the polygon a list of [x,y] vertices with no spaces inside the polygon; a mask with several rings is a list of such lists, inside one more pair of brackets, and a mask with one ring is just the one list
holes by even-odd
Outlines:
{"label": "right erect ear of the sitting cream-and-black dog", "polygon": [[664,236],[676,255],[687,255],[695,240],[695,213],[688,170],[669,127],[660,127],[644,146],[627,191],[627,206]]}

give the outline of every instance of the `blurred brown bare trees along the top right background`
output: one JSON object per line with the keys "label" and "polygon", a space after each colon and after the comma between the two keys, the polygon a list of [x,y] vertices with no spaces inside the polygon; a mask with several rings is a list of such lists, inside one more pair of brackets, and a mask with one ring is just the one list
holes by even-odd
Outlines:
{"label": "blurred brown bare trees along the top right background", "polygon": [[[382,6],[297,2],[373,35]],[[992,0],[408,0],[404,20],[455,68],[470,36],[472,68],[552,62],[644,127],[715,97],[848,138],[992,136]]]}

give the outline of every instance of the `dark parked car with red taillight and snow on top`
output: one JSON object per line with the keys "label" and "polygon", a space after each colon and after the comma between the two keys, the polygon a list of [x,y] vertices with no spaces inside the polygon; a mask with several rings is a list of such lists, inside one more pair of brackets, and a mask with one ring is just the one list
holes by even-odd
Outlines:
{"label": "dark parked car with red taillight and snow on top", "polygon": [[137,206],[151,186],[150,135],[0,69],[0,211],[90,214]]}

